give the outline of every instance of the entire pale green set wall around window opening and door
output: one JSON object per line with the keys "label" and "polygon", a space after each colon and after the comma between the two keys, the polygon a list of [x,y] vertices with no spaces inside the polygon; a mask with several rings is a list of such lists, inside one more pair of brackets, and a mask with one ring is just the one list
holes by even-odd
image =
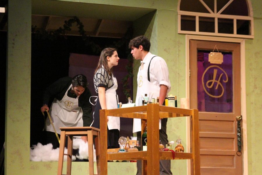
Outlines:
{"label": "entire pale green set wall around window opening and door", "polygon": [[[32,0],[34,1],[34,0]],[[79,0],[61,0],[79,2]],[[31,0],[8,1],[8,53],[6,80],[6,174],[56,174],[57,162],[30,162],[30,77],[31,77]],[[185,35],[177,34],[177,2],[82,0],[83,3],[108,4],[156,9],[134,21],[135,35],[150,38],[151,52],[163,57],[168,65],[171,81],[170,94],[185,97]],[[245,42],[245,75],[247,104],[248,172],[260,174],[261,167],[261,68],[262,68],[262,6],[261,0],[252,0],[255,38]],[[134,61],[134,87],[139,63]],[[136,89],[134,89],[134,94]],[[180,102],[178,101],[178,106]],[[182,139],[185,144],[185,120],[170,119],[169,140]],[[73,162],[72,174],[85,174],[86,162]],[[121,173],[119,170],[122,170]],[[173,174],[186,174],[185,160],[171,161]],[[109,163],[109,174],[130,174],[135,163]]]}

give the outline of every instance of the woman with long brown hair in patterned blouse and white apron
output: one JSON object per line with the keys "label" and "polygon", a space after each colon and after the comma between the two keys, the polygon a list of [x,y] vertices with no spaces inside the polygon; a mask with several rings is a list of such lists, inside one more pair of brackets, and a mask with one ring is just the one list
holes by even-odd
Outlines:
{"label": "woman with long brown hair in patterned blouse and white apron", "polygon": [[[93,127],[100,128],[100,109],[117,108],[117,81],[111,68],[118,65],[118,60],[115,48],[102,50],[94,75],[94,86],[98,99],[95,105]],[[107,148],[119,148],[119,130],[119,117],[107,116]]]}

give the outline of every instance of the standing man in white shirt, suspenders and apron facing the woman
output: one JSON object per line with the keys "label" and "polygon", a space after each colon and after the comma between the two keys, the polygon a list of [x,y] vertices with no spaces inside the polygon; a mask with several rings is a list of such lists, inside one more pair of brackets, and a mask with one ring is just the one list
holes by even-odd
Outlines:
{"label": "standing man in white shirt, suspenders and apron facing the woman", "polygon": [[[167,93],[171,89],[167,64],[163,58],[149,52],[150,46],[150,41],[145,36],[138,36],[129,42],[131,54],[135,60],[140,60],[141,62],[137,74],[136,106],[138,106],[139,97],[144,97],[145,94],[155,99],[159,97],[159,104],[164,105]],[[168,143],[166,131],[167,118],[164,118],[161,120],[161,129],[159,130],[159,139],[163,145]],[[141,140],[140,119],[134,119],[133,132],[137,132],[137,140]],[[170,163],[170,160],[160,160],[160,175],[172,174]],[[137,175],[140,174],[141,161],[138,160]]]}

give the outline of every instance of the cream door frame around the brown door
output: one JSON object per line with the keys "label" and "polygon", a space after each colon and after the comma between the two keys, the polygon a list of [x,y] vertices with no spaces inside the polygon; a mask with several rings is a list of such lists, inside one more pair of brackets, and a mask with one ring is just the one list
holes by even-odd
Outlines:
{"label": "cream door frame around the brown door", "polygon": [[[246,107],[246,71],[245,71],[245,39],[242,38],[226,38],[215,36],[200,36],[200,35],[186,35],[185,36],[185,56],[186,56],[186,97],[190,100],[190,62],[189,62],[189,41],[220,41],[230,43],[240,43],[240,86],[241,86],[241,115],[242,115],[242,143],[243,143],[243,175],[248,175],[247,162],[247,107]],[[187,150],[190,150],[190,118],[186,119],[186,136],[187,136]],[[187,160],[187,175],[191,175],[191,161]]]}

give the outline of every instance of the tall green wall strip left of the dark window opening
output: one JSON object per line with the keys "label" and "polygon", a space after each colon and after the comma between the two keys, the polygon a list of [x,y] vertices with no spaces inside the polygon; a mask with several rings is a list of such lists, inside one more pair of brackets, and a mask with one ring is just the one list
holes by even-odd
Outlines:
{"label": "tall green wall strip left of the dark window opening", "polygon": [[5,173],[28,174],[30,149],[31,0],[8,1]]}

